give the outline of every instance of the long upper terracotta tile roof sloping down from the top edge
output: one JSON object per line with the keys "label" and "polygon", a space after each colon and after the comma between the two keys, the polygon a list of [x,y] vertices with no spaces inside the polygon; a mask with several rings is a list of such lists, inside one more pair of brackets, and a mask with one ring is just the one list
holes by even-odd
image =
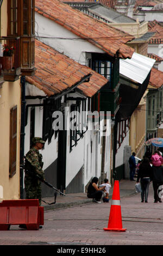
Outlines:
{"label": "long upper terracotta tile roof sloping down from the top edge", "polygon": [[80,38],[113,57],[131,58],[134,49],[126,45],[134,36],[93,19],[58,0],[35,0],[35,11],[57,22]]}

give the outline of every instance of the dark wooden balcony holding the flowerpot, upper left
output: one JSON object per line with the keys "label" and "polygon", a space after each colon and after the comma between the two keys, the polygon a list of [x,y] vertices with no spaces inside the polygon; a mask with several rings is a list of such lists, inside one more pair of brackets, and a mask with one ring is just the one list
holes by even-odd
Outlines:
{"label": "dark wooden balcony holding the flowerpot, upper left", "polygon": [[[4,47],[8,46],[4,53]],[[9,48],[12,48],[13,53],[9,53]],[[0,58],[1,58],[1,76],[4,81],[14,82],[21,75],[20,66],[20,38],[11,38],[2,36],[0,38]]]}

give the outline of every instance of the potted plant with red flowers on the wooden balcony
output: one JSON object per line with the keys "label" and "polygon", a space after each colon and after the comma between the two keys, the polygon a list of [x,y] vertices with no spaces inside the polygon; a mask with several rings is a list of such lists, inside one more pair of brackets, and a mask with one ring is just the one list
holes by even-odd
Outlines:
{"label": "potted plant with red flowers on the wooden balcony", "polygon": [[14,51],[14,46],[8,46],[7,44],[3,46],[2,70],[12,69],[14,64]]}

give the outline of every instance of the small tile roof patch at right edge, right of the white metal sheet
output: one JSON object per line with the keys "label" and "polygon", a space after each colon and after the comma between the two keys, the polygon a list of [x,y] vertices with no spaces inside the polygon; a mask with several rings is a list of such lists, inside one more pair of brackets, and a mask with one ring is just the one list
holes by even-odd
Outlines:
{"label": "small tile roof patch at right edge, right of the white metal sheet", "polygon": [[158,69],[152,68],[149,84],[155,88],[160,88],[161,86],[163,86],[163,72]]}

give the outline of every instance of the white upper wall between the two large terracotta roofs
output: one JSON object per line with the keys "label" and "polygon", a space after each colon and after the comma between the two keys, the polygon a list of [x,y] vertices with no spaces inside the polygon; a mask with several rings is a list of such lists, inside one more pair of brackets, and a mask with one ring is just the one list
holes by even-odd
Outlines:
{"label": "white upper wall between the two large terracotta roofs", "polygon": [[[90,44],[85,40],[80,39],[77,35],[68,31],[64,27],[58,25],[54,21],[51,21],[46,17],[43,17],[40,14],[35,13],[35,21],[37,25],[39,25],[35,26],[35,32],[37,32],[36,35],[40,36],[40,41],[53,47],[60,53],[63,53],[66,56],[76,60],[78,63],[82,65],[86,64],[85,52],[104,52],[98,47]],[[47,36],[54,39],[41,38],[41,36]],[[68,40],[67,38],[71,40]]]}

